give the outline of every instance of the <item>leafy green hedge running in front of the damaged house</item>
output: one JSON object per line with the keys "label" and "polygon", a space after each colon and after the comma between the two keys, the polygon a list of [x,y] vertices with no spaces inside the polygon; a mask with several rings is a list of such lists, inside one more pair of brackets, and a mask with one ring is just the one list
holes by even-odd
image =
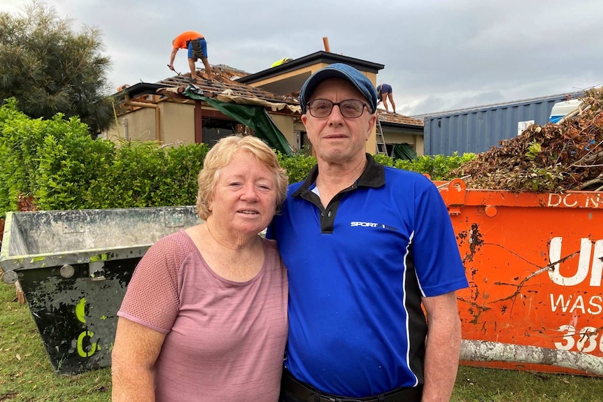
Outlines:
{"label": "leafy green hedge running in front of the damaged house", "polygon": [[[0,107],[0,217],[25,197],[41,210],[194,205],[206,144],[172,148],[156,143],[93,140],[86,124],[58,114],[31,119],[7,99]],[[430,174],[433,180],[474,154],[418,157],[376,155],[386,166]],[[304,180],[315,157],[278,153],[290,182]]]}

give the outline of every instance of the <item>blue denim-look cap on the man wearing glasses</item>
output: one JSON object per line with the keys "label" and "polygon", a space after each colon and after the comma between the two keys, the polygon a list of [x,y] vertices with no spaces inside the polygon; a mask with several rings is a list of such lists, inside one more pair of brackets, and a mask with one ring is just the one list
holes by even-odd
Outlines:
{"label": "blue denim-look cap on the man wearing glasses", "polygon": [[306,104],[308,99],[312,96],[314,89],[320,84],[320,82],[327,78],[343,78],[348,80],[354,85],[361,94],[369,101],[371,107],[371,113],[375,113],[377,110],[377,91],[373,86],[373,83],[364,76],[363,73],[355,69],[353,66],[348,64],[335,63],[330,66],[326,66],[315,73],[313,73],[302,86],[302,90],[299,92],[299,105],[302,106],[302,113],[306,113]]}

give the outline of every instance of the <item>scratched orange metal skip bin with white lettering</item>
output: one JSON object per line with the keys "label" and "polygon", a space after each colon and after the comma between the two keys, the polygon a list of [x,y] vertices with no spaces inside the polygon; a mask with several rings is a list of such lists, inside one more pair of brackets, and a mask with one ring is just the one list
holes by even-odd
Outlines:
{"label": "scratched orange metal skip bin with white lettering", "polygon": [[457,292],[462,350],[474,347],[464,363],[603,375],[603,192],[467,189],[460,179],[439,189],[469,280]]}

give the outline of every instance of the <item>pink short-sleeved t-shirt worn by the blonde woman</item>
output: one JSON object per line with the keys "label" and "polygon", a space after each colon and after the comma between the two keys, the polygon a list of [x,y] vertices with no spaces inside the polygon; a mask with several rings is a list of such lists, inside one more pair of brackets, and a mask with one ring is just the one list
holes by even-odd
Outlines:
{"label": "pink short-sleeved t-shirt worn by the blonde woman", "polygon": [[248,282],[208,268],[185,231],[141,259],[118,315],[166,333],[155,397],[168,401],[278,401],[288,319],[287,270],[262,238],[264,266]]}

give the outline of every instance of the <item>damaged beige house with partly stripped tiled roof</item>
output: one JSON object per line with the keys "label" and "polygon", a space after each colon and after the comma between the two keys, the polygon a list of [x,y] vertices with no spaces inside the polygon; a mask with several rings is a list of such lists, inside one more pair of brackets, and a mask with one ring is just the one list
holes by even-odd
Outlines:
{"label": "damaged beige house with partly stripped tiled roof", "polygon": [[[383,64],[331,52],[315,52],[258,73],[212,66],[213,80],[191,85],[186,75],[120,87],[117,124],[106,139],[157,141],[164,145],[208,143],[232,134],[251,134],[284,154],[309,148],[299,89],[312,73],[333,63],[354,66],[376,85]],[[199,76],[204,72],[198,71]],[[423,122],[378,109],[367,152],[411,159],[423,155]]]}

